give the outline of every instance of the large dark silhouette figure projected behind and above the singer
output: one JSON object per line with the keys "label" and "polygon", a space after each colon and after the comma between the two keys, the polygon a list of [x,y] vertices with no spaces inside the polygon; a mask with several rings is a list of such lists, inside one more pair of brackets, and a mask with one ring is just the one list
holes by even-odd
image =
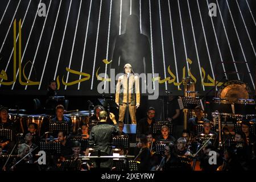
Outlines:
{"label": "large dark silhouette figure projected behind and above the singer", "polygon": [[152,73],[150,43],[147,36],[141,34],[136,15],[129,15],[125,34],[118,35],[115,39],[112,63],[115,74],[122,73],[126,63],[133,65],[135,73]]}

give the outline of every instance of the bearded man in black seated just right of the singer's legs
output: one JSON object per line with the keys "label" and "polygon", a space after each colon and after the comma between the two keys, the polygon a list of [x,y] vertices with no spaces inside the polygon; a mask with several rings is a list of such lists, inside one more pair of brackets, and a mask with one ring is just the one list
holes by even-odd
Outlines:
{"label": "bearded man in black seated just right of the singer's legs", "polygon": [[155,108],[149,107],[147,110],[147,117],[142,118],[137,124],[136,135],[146,135],[147,133],[153,133],[153,124],[155,123]]}

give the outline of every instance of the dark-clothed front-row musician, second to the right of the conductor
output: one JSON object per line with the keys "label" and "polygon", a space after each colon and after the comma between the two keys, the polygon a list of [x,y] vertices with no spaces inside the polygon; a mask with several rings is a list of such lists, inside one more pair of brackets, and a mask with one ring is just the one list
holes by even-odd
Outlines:
{"label": "dark-clothed front-row musician, second to the right of the conductor", "polygon": [[164,146],[164,157],[156,168],[156,171],[177,171],[181,169],[182,164],[175,152],[174,143],[166,144]]}

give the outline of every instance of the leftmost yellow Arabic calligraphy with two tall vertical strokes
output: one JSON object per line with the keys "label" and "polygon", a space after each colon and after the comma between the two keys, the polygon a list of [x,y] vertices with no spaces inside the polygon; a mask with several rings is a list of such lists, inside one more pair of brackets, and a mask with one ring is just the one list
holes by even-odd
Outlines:
{"label": "leftmost yellow Arabic calligraphy with two tall vertical strokes", "polygon": [[[14,20],[14,23],[13,23],[13,44],[14,44],[14,47],[13,47],[14,48],[13,81],[11,81],[11,82],[2,82],[2,81],[0,81],[0,84],[3,84],[3,85],[12,85],[16,81],[16,19]],[[27,82],[23,82],[22,81],[22,77],[21,77],[21,71],[22,71],[22,66],[21,66],[22,49],[21,49],[21,46],[22,46],[22,31],[21,31],[21,19],[20,19],[19,20],[19,70],[20,70],[19,71],[19,83],[20,83],[20,85],[39,85],[40,82],[28,80],[28,78],[25,75],[24,68],[26,67],[26,65],[28,63],[31,63],[31,61],[28,61],[26,63],[26,65],[24,66],[24,68],[23,68],[23,77],[25,78],[25,80]],[[3,80],[7,80],[8,79],[7,73],[4,70],[1,71],[0,78],[2,78]]]}

